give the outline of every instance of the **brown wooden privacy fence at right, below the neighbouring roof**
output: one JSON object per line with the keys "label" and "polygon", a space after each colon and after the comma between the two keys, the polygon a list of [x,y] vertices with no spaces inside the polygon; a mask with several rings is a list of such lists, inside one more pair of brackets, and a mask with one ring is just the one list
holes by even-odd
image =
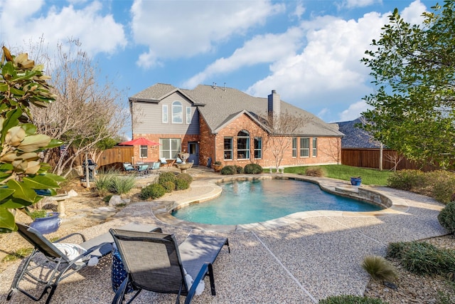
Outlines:
{"label": "brown wooden privacy fence at right, below the neighbouring roof", "polygon": [[[400,155],[395,150],[382,150],[382,169],[390,170],[395,167]],[[373,148],[341,148],[341,163],[353,167],[379,168],[379,149]],[[424,166],[402,157],[397,164],[397,170],[401,169],[422,169],[432,171],[437,169],[432,166]]]}

